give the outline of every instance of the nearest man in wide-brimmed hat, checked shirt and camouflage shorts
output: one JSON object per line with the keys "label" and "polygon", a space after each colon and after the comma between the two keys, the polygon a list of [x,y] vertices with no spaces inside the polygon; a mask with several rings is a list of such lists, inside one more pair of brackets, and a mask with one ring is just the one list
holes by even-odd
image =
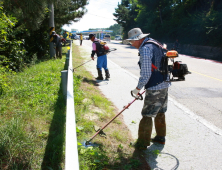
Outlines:
{"label": "nearest man in wide-brimmed hat, checked shirt and camouflage shorts", "polygon": [[[134,28],[128,32],[131,45],[139,49],[141,69],[138,85],[131,92],[137,96],[143,87],[146,89],[141,111],[143,117],[139,123],[138,139],[135,144],[135,148],[141,150],[147,149],[150,141],[165,144],[165,112],[167,111],[168,88],[171,85],[170,82],[164,81],[163,75],[157,70],[164,56],[163,46],[148,35],[143,34],[140,28]],[[151,139],[152,118],[154,118],[156,130],[156,136],[153,139]]]}

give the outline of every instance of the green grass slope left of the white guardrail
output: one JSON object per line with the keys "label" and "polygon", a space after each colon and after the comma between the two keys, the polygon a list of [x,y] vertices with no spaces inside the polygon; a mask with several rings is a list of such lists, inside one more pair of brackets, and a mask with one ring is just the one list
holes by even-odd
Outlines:
{"label": "green grass slope left of the white guardrail", "polygon": [[[65,103],[63,59],[38,61],[6,74],[0,95],[0,169],[63,169]],[[6,88],[7,87],[7,88]]]}

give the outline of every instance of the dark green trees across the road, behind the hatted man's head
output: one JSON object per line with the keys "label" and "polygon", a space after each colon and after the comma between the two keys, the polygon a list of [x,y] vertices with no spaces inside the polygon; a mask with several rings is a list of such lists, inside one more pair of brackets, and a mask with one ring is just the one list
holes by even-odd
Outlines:
{"label": "dark green trees across the road, behind the hatted man's head", "polygon": [[183,44],[222,47],[221,11],[220,0],[122,0],[114,16],[124,38],[130,29],[140,27],[163,42],[178,39]]}

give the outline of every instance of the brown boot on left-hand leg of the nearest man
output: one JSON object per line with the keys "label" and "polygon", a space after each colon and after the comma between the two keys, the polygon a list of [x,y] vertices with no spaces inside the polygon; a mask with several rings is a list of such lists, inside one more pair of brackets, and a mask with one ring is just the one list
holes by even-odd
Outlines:
{"label": "brown boot on left-hand leg of the nearest man", "polygon": [[143,116],[139,124],[138,140],[137,140],[138,149],[143,150],[146,149],[147,146],[150,146],[152,128],[153,128],[152,118]]}

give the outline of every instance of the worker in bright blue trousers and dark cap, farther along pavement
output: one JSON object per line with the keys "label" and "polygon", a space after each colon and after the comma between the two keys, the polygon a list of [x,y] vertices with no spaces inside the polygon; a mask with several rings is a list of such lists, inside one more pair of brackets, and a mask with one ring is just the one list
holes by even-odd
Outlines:
{"label": "worker in bright blue trousers and dark cap, farther along pavement", "polygon": [[91,40],[92,43],[92,54],[91,58],[94,60],[94,55],[97,55],[97,71],[98,71],[98,77],[97,80],[103,80],[102,75],[102,68],[105,70],[106,73],[106,79],[110,78],[109,70],[107,68],[107,55],[104,53],[105,51],[103,48],[101,48],[100,41],[95,38],[94,34],[89,34],[89,40]]}

